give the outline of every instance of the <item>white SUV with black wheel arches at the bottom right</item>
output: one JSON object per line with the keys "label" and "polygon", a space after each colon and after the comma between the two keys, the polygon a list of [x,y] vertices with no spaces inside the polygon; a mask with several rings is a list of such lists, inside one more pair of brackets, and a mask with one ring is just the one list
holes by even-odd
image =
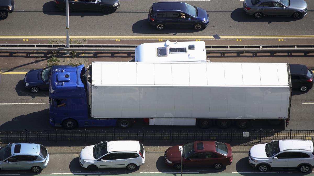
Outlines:
{"label": "white SUV with black wheel arches at the bottom right", "polygon": [[313,142],[308,140],[279,140],[254,145],[249,163],[261,172],[271,168],[298,168],[306,173],[314,167]]}

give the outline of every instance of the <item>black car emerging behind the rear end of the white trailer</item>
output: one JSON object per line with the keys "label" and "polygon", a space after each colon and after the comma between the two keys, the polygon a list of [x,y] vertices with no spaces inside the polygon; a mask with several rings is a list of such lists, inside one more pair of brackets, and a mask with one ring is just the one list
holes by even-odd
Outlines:
{"label": "black car emerging behind the rear end of the white trailer", "polygon": [[292,88],[306,92],[313,86],[313,72],[306,65],[290,64]]}

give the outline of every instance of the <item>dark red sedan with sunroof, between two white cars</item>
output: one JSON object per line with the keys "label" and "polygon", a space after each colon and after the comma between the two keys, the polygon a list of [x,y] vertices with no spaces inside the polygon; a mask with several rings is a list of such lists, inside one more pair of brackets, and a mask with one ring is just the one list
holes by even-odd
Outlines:
{"label": "dark red sedan with sunroof, between two white cars", "polygon": [[[181,153],[179,146],[173,146],[165,151],[165,162],[175,169],[181,168]],[[183,145],[183,167],[213,167],[220,169],[232,163],[230,144],[215,141],[196,141]]]}

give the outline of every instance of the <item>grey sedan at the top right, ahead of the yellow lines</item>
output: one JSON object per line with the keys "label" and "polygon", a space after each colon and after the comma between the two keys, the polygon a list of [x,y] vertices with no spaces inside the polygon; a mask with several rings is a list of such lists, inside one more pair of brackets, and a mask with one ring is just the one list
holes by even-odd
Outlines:
{"label": "grey sedan at the top right, ahead of the yellow lines", "polygon": [[306,15],[307,3],[304,0],[245,0],[243,10],[256,19],[263,16],[292,16],[299,19]]}

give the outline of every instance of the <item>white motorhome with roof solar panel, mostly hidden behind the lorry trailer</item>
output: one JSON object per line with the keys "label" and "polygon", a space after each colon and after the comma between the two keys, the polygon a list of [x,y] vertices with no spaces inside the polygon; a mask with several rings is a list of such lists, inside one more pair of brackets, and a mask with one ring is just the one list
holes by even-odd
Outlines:
{"label": "white motorhome with roof solar panel, mostly hidden behind the lorry trailer", "polygon": [[144,43],[135,48],[135,62],[206,62],[203,41]]}

